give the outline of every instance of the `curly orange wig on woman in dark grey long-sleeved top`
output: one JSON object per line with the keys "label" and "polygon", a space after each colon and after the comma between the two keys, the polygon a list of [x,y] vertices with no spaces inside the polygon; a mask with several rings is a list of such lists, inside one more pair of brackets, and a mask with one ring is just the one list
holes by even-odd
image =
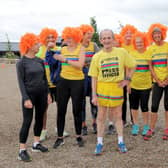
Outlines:
{"label": "curly orange wig on woman in dark grey long-sleeved top", "polygon": [[26,33],[25,35],[23,35],[19,43],[21,55],[26,54],[28,50],[34,46],[34,44],[39,42],[39,37],[33,33]]}

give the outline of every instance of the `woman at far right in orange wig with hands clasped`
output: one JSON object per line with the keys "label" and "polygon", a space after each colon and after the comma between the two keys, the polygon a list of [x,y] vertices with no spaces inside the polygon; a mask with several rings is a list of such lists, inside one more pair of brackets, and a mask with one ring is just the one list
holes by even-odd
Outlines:
{"label": "woman at far right in orange wig with hands clasped", "polygon": [[152,24],[148,30],[150,42],[154,43],[148,48],[149,68],[152,73],[154,85],[152,89],[152,107],[150,130],[144,140],[149,140],[154,134],[155,124],[158,118],[160,100],[164,92],[165,128],[163,140],[168,140],[168,43],[166,38],[167,27],[162,24]]}

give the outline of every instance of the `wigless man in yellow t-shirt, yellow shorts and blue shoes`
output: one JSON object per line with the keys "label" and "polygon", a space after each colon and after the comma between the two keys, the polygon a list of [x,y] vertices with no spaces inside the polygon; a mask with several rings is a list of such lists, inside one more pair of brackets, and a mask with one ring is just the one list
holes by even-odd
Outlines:
{"label": "wigless man in yellow t-shirt, yellow shorts and blue shoes", "polygon": [[[135,67],[135,60],[125,49],[113,48],[114,34],[105,29],[100,33],[103,49],[92,58],[89,75],[92,77],[92,103],[98,106],[97,116],[97,145],[95,154],[100,155],[103,148],[103,133],[107,110],[115,120],[118,133],[118,149],[127,152],[123,141],[122,103],[123,87],[131,79]],[[128,68],[124,78],[125,68]]]}

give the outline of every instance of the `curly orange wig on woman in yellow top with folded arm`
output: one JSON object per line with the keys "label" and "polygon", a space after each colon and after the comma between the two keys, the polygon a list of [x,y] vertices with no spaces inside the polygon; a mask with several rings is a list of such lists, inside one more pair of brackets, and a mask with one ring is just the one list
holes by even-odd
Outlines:
{"label": "curly orange wig on woman in yellow top with folded arm", "polygon": [[81,42],[83,38],[83,33],[80,28],[77,27],[65,27],[62,32],[62,38],[66,40],[67,38],[72,38],[76,43]]}

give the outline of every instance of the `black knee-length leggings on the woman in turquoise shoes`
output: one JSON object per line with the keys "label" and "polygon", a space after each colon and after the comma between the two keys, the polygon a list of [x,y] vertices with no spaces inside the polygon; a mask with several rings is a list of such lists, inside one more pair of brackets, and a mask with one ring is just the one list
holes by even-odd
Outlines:
{"label": "black knee-length leggings on the woman in turquoise shoes", "polygon": [[148,102],[151,89],[137,90],[131,88],[130,106],[133,110],[138,110],[139,104],[142,112],[148,112]]}

